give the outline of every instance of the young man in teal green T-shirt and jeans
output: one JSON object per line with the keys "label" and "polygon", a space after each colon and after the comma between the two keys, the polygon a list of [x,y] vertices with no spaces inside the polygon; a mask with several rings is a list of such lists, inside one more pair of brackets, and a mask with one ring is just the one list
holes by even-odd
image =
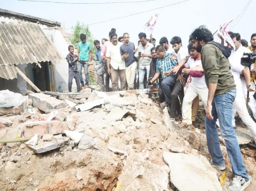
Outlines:
{"label": "young man in teal green T-shirt and jeans", "polygon": [[[86,35],[80,34],[81,41],[78,43],[78,71],[80,76],[80,83],[82,87],[89,87],[89,73],[88,67],[90,65],[91,57],[92,57],[92,47],[89,42],[86,41]],[[85,75],[85,86],[83,82],[82,76],[82,67],[84,68]]]}

